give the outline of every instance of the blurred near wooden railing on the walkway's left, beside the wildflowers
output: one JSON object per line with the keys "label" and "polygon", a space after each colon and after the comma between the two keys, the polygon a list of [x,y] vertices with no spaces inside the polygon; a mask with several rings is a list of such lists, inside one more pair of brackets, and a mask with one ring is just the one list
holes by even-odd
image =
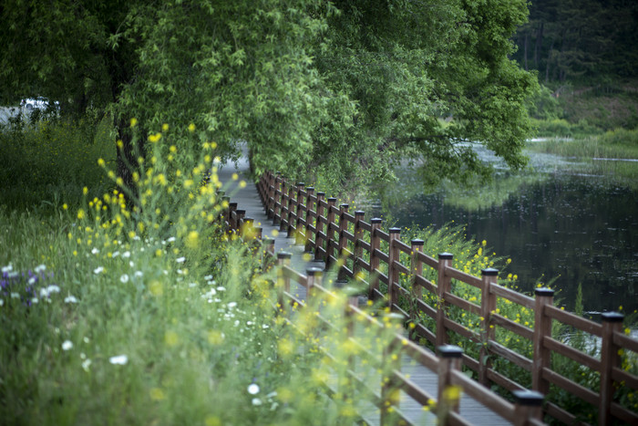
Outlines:
{"label": "blurred near wooden railing on the walkway's left, beside the wildflowers", "polygon": [[[277,283],[277,288],[280,292],[279,307],[293,305],[298,312],[300,309],[304,309],[308,306],[312,308],[312,299],[315,297],[335,297],[334,293],[323,286],[323,273],[320,269],[309,268],[304,275],[290,267],[290,259],[290,253],[280,252],[277,254],[277,265],[279,265]],[[295,282],[304,287],[307,295],[305,299],[293,295],[291,282]],[[282,309],[282,311],[289,316],[289,321],[291,321],[294,326],[294,316],[291,314],[291,311],[286,309]],[[316,315],[316,317],[324,321],[327,325],[334,326],[321,315]],[[386,328],[386,325],[382,321],[379,321],[376,317],[371,317],[357,307],[356,297],[345,305],[344,317],[356,317],[359,321],[365,322],[368,327]],[[348,330],[347,338],[354,340],[356,343],[354,327],[346,326],[345,329]],[[463,352],[461,348],[451,345],[441,346],[437,348],[439,356],[436,357],[427,349],[407,340],[403,335],[392,331],[390,331],[390,333],[392,333],[392,336],[390,337],[388,346],[391,350],[384,351],[383,354],[380,354],[381,363],[385,366],[385,368],[381,370],[384,370],[385,377],[379,380],[380,389],[378,389],[378,391],[368,388],[369,384],[361,381],[355,373],[354,368],[347,369],[347,373],[351,376],[351,379],[358,381],[360,387],[366,388],[366,391],[362,393],[378,395],[378,397],[373,400],[376,407],[380,410],[380,423],[382,425],[412,424],[400,410],[389,410],[389,407],[400,408],[400,400],[396,398],[395,394],[396,390],[403,390],[409,397],[424,407],[432,405],[432,401],[435,401],[437,407],[436,415],[439,421],[443,420],[440,424],[471,424],[471,419],[463,418],[459,414],[458,399],[450,400],[447,396],[446,390],[454,386],[462,388],[464,394],[467,394],[474,400],[478,400],[478,402],[485,405],[489,410],[498,413],[500,417],[510,421],[512,424],[521,426],[544,424],[540,421],[543,396],[539,392],[514,390],[512,393],[516,402],[512,404],[508,400],[499,397],[496,393],[486,391],[482,385],[472,379],[468,379],[468,376],[461,372],[460,357]],[[365,347],[365,345],[360,346]],[[396,355],[396,357],[391,357],[392,354]],[[329,352],[327,355],[333,356],[333,354]],[[438,373],[436,396],[430,395],[426,390],[420,389],[407,375],[401,373],[399,363],[403,356],[410,358],[411,363],[414,365],[419,364]],[[374,354],[371,354],[371,358],[374,358]],[[367,359],[369,360],[369,358]],[[391,411],[393,411],[394,414],[389,414]]]}

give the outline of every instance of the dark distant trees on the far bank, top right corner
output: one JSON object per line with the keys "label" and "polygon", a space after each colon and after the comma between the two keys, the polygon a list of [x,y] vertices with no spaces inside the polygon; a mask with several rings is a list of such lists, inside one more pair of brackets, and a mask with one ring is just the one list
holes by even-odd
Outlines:
{"label": "dark distant trees on the far bank, top right corner", "polygon": [[540,0],[516,34],[514,54],[545,82],[638,76],[638,2]]}

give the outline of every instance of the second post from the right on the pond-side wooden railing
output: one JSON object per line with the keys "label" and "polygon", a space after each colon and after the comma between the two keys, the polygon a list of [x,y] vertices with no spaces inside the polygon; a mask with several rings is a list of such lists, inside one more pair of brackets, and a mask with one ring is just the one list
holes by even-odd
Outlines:
{"label": "second post from the right on the pond-side wooden railing", "polygon": [[551,350],[545,348],[545,337],[551,338],[551,317],[545,314],[545,307],[554,303],[554,290],[537,288],[534,290],[534,359],[531,364],[531,389],[543,395],[550,392],[550,382],[542,377],[543,369],[551,368]]}

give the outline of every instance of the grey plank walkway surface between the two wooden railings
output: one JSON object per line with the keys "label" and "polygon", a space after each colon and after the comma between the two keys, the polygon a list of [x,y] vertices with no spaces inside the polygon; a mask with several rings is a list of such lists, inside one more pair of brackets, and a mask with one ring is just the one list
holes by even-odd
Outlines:
{"label": "grey plank walkway surface between the two wooden railings", "polygon": [[[237,173],[238,179],[233,180],[233,174]],[[286,233],[279,233],[279,226],[274,226],[273,221],[268,219],[259,197],[259,192],[251,182],[248,161],[245,156],[242,157],[237,164],[227,163],[221,167],[219,171],[220,181],[224,184],[223,190],[231,197],[231,202],[237,203],[238,209],[246,211],[246,217],[254,220],[254,225],[262,227],[263,237],[271,237],[274,239],[275,252],[286,251],[293,254],[291,265],[298,272],[304,272],[307,267],[314,266],[324,269],[323,262],[307,262],[303,259],[304,246],[294,244],[294,238],[288,238]],[[241,188],[239,182],[247,182],[244,188]],[[305,289],[298,286],[297,291],[293,290],[293,294],[299,294],[304,299]],[[425,390],[428,394],[436,398],[437,396],[437,372],[426,369],[410,358],[402,359],[401,373],[408,375],[410,380]],[[486,392],[490,390],[486,389]],[[409,397],[403,391],[401,392],[401,400],[399,403],[399,411],[403,416],[409,419],[413,424],[436,424],[436,419],[432,413],[423,410],[415,400]],[[379,424],[379,410],[372,404],[366,412],[360,413],[363,419],[370,425]],[[477,400],[463,395],[460,401],[460,414],[469,421],[470,424],[499,426],[510,424],[493,411],[488,410]]]}

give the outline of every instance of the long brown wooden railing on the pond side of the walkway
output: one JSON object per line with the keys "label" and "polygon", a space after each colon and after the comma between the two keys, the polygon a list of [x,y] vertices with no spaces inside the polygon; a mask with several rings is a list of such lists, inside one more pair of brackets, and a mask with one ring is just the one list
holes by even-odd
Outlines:
{"label": "long brown wooden railing on the pond side of the walkway", "polygon": [[[315,193],[314,188],[305,188],[304,183],[293,184],[280,175],[264,173],[258,189],[268,217],[273,223],[279,223],[282,232],[305,244],[315,259],[324,260],[327,267],[336,265],[340,277],[364,284],[371,300],[384,301],[406,319],[426,318],[434,324],[433,327],[415,324],[414,339],[425,339],[435,348],[448,345],[452,338],[476,343],[480,347],[478,355],[473,357],[465,353],[461,360],[482,385],[496,384],[510,391],[530,387],[545,395],[550,393],[551,386],[555,386],[596,407],[599,424],[609,424],[612,419],[638,424],[635,410],[623,407],[613,399],[614,391],[620,387],[638,390],[638,377],[623,369],[619,355],[623,351],[632,351],[634,356],[638,353],[638,341],[623,333],[621,314],[603,314],[602,324],[598,324],[554,307],[551,289],[537,288],[532,298],[499,286],[496,269],[483,269],[480,277],[469,275],[452,267],[453,255],[442,253],[437,258],[426,255],[422,252],[423,241],[412,240],[406,244],[400,239],[399,228],[385,232],[381,230],[380,219],[373,218],[367,223],[364,212],[349,213],[347,204],[337,207],[336,199],[326,199],[324,192]],[[432,276],[426,274],[428,268],[435,271],[436,280],[427,279]],[[477,288],[480,302],[473,303],[455,295],[455,283]],[[534,318],[529,325],[520,324],[501,316],[498,303],[533,311]],[[458,321],[458,317],[450,315],[452,312],[480,318],[480,327],[469,329]],[[597,356],[572,348],[552,336],[556,323],[600,341]],[[528,341],[531,354],[499,343],[497,327]],[[600,385],[592,390],[552,369],[552,357],[556,356],[596,371]],[[506,359],[527,372],[528,383],[499,373],[493,368],[493,359]],[[551,400],[545,401],[543,411],[565,423],[581,421],[578,413]]]}

